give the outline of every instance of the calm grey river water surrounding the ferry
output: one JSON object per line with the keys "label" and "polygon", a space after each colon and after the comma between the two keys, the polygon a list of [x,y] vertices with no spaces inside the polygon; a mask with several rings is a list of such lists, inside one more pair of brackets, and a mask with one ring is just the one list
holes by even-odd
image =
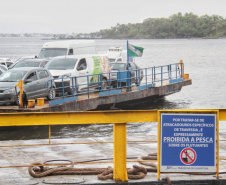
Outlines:
{"label": "calm grey river water surrounding the ferry", "polygon": [[[37,55],[48,40],[40,38],[0,38],[0,57],[16,60],[21,56]],[[226,108],[226,39],[167,39],[130,40],[144,47],[144,54],[136,58],[140,67],[185,64],[192,85],[164,99],[140,105],[134,109],[213,109]],[[96,40],[99,52],[112,46],[126,48],[126,40]],[[155,125],[155,124],[154,124]],[[150,133],[149,123],[128,125],[128,134]],[[111,135],[112,126],[54,126],[52,137],[86,137]],[[0,139],[47,138],[48,127],[13,127],[0,130]]]}

